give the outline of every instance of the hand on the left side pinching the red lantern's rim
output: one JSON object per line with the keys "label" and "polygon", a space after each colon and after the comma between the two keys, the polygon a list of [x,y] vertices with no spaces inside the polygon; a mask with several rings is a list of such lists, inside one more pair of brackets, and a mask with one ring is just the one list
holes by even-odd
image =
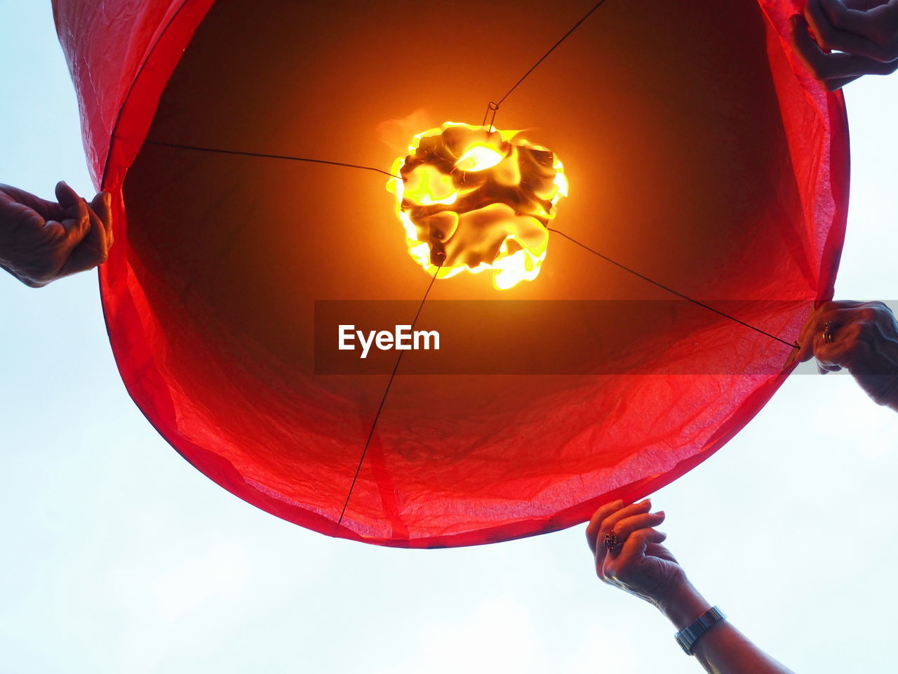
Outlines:
{"label": "hand on the left side pinching the red lantern's rim", "polygon": [[106,262],[112,245],[110,195],[90,204],[65,182],[58,203],[0,184],[0,267],[31,288]]}

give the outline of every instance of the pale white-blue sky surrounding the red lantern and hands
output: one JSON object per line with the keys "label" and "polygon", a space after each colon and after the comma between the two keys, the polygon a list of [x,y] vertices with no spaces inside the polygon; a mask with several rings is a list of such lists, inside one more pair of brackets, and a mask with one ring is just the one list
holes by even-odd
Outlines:
{"label": "pale white-blue sky surrounding the red lantern and hands", "polygon": [[[0,0],[0,182],[92,194],[49,3]],[[854,181],[837,297],[898,298],[898,75],[848,87]],[[237,500],[128,398],[95,273],[0,278],[0,653],[11,672],[699,672],[654,609],[594,577],[581,527],[405,551]],[[894,656],[898,414],[791,377],[657,492],[706,596],[797,672]]]}

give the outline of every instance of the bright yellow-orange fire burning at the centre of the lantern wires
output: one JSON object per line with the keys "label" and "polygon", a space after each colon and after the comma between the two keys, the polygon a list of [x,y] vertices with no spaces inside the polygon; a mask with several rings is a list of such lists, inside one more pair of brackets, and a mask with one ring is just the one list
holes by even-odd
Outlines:
{"label": "bright yellow-orange fire burning at the centre of the lantern wires", "polygon": [[409,254],[431,276],[494,270],[504,290],[539,275],[568,181],[558,157],[520,133],[447,121],[393,163],[387,190]]}

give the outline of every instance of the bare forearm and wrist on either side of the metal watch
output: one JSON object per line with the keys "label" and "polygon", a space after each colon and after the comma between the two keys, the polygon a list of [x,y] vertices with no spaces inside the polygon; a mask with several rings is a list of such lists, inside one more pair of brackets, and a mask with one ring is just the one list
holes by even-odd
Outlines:
{"label": "bare forearm and wrist on either side of the metal watch", "polygon": [[[711,607],[689,581],[683,582],[665,601],[656,602],[656,606],[677,631],[691,625]],[[728,620],[712,625],[702,634],[694,653],[701,666],[711,674],[793,674],[755,646]]]}

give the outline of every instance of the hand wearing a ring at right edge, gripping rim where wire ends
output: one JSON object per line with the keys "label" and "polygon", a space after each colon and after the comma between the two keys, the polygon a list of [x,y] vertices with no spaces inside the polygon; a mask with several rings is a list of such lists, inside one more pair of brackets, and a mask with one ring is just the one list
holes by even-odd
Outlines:
{"label": "hand wearing a ring at right edge, gripping rim where wire ends", "polygon": [[808,316],[798,343],[796,360],[816,358],[823,375],[846,368],[876,403],[898,411],[898,323],[888,306],[827,302]]}

